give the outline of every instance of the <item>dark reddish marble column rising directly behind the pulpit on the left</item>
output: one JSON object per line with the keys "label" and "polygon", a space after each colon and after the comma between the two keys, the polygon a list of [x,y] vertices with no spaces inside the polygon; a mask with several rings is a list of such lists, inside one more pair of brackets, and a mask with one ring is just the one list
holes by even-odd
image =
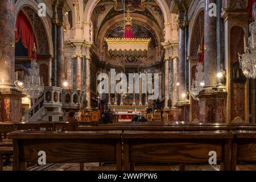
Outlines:
{"label": "dark reddish marble column rising directly behind the pulpit on the left", "polygon": [[57,26],[57,86],[63,86],[64,78],[64,28],[59,24]]}

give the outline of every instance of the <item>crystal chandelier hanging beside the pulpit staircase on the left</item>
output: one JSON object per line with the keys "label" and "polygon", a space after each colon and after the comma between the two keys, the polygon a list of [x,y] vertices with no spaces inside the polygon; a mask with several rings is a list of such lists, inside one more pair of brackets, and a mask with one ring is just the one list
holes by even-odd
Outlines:
{"label": "crystal chandelier hanging beside the pulpit staircase on the left", "polygon": [[28,76],[26,77],[24,91],[32,100],[38,98],[44,90],[43,79],[39,76],[38,63],[36,63],[35,56],[36,48],[34,44],[33,58],[31,60],[31,68],[28,69]]}

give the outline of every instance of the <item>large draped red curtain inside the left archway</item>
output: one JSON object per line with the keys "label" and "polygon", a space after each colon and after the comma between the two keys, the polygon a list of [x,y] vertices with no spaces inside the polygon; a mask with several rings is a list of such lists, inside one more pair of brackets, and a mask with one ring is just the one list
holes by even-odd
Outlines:
{"label": "large draped red curtain inside the left archway", "polygon": [[33,38],[32,34],[33,29],[30,22],[28,22],[26,15],[24,15],[22,11],[19,11],[16,19],[15,42],[18,42],[21,38],[23,46],[26,47],[28,50],[28,56],[30,57],[30,59],[36,59],[36,55],[33,57],[32,53],[33,44],[35,43],[35,35]]}

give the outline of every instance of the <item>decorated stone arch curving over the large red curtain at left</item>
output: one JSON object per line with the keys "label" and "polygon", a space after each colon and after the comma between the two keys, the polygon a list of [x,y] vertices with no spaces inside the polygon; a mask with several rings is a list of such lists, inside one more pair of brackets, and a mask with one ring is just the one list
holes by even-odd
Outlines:
{"label": "decorated stone arch curving over the large red curtain at left", "polygon": [[[19,11],[22,10],[24,7],[30,7],[35,12],[38,12],[39,10],[38,4],[35,1],[18,0],[15,3],[15,17],[18,15]],[[46,30],[49,55],[53,56],[53,43],[52,43],[51,30],[49,28],[46,17],[40,17],[40,19],[42,20],[44,30]]]}

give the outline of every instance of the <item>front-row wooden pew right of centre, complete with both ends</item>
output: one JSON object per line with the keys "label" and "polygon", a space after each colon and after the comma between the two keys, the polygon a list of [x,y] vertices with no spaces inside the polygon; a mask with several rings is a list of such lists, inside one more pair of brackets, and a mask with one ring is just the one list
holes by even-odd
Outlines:
{"label": "front-row wooden pew right of centre, complete with both ends", "polygon": [[222,170],[231,169],[229,131],[124,131],[124,170],[130,163],[208,163],[217,152]]}

